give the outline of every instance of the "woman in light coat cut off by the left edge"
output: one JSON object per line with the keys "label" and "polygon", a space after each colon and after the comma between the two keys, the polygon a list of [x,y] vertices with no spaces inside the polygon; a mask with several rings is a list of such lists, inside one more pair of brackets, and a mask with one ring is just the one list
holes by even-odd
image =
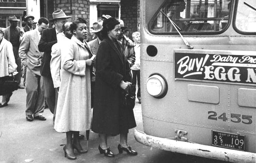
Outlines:
{"label": "woman in light coat cut off by the left edge", "polygon": [[[16,69],[17,65],[15,63],[12,44],[3,38],[3,30],[0,28],[0,86],[4,83],[6,76],[13,74]],[[0,108],[8,105],[11,96],[12,92],[2,97]]]}

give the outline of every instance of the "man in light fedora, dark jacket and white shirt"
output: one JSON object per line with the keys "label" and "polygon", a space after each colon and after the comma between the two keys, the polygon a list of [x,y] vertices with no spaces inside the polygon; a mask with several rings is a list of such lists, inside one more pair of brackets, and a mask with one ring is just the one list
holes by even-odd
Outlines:
{"label": "man in light fedora, dark jacket and white shirt", "polygon": [[44,52],[40,67],[40,74],[43,79],[44,97],[53,114],[55,108],[55,89],[50,69],[52,46],[65,37],[62,25],[65,24],[70,17],[71,16],[66,16],[62,10],[54,11],[52,21],[54,21],[55,27],[44,30],[38,44],[39,51]]}

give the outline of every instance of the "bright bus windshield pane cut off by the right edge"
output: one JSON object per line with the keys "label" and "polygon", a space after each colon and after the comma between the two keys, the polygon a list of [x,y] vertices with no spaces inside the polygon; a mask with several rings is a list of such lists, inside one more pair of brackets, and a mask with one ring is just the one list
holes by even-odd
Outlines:
{"label": "bright bus windshield pane cut off by the right edge", "polygon": [[238,1],[235,27],[241,32],[256,32],[255,0]]}

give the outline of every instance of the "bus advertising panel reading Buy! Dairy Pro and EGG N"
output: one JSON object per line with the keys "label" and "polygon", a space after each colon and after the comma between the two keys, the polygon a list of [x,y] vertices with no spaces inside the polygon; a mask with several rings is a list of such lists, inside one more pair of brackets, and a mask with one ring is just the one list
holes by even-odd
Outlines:
{"label": "bus advertising panel reading Buy! Dairy Pro and EGG N", "polygon": [[256,84],[256,52],[174,50],[175,79]]}

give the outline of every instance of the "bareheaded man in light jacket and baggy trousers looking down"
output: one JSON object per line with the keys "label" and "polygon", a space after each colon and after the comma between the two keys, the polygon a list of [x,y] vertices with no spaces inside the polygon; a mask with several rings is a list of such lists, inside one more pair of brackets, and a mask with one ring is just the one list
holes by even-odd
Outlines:
{"label": "bareheaded man in light jacket and baggy trousers looking down", "polygon": [[43,30],[47,29],[49,21],[41,17],[38,20],[38,28],[28,31],[22,37],[19,47],[19,56],[22,64],[27,66],[27,102],[26,102],[26,119],[46,120],[42,115],[44,111],[44,95],[42,90],[42,78],[40,75],[42,52],[38,50],[38,43]]}

